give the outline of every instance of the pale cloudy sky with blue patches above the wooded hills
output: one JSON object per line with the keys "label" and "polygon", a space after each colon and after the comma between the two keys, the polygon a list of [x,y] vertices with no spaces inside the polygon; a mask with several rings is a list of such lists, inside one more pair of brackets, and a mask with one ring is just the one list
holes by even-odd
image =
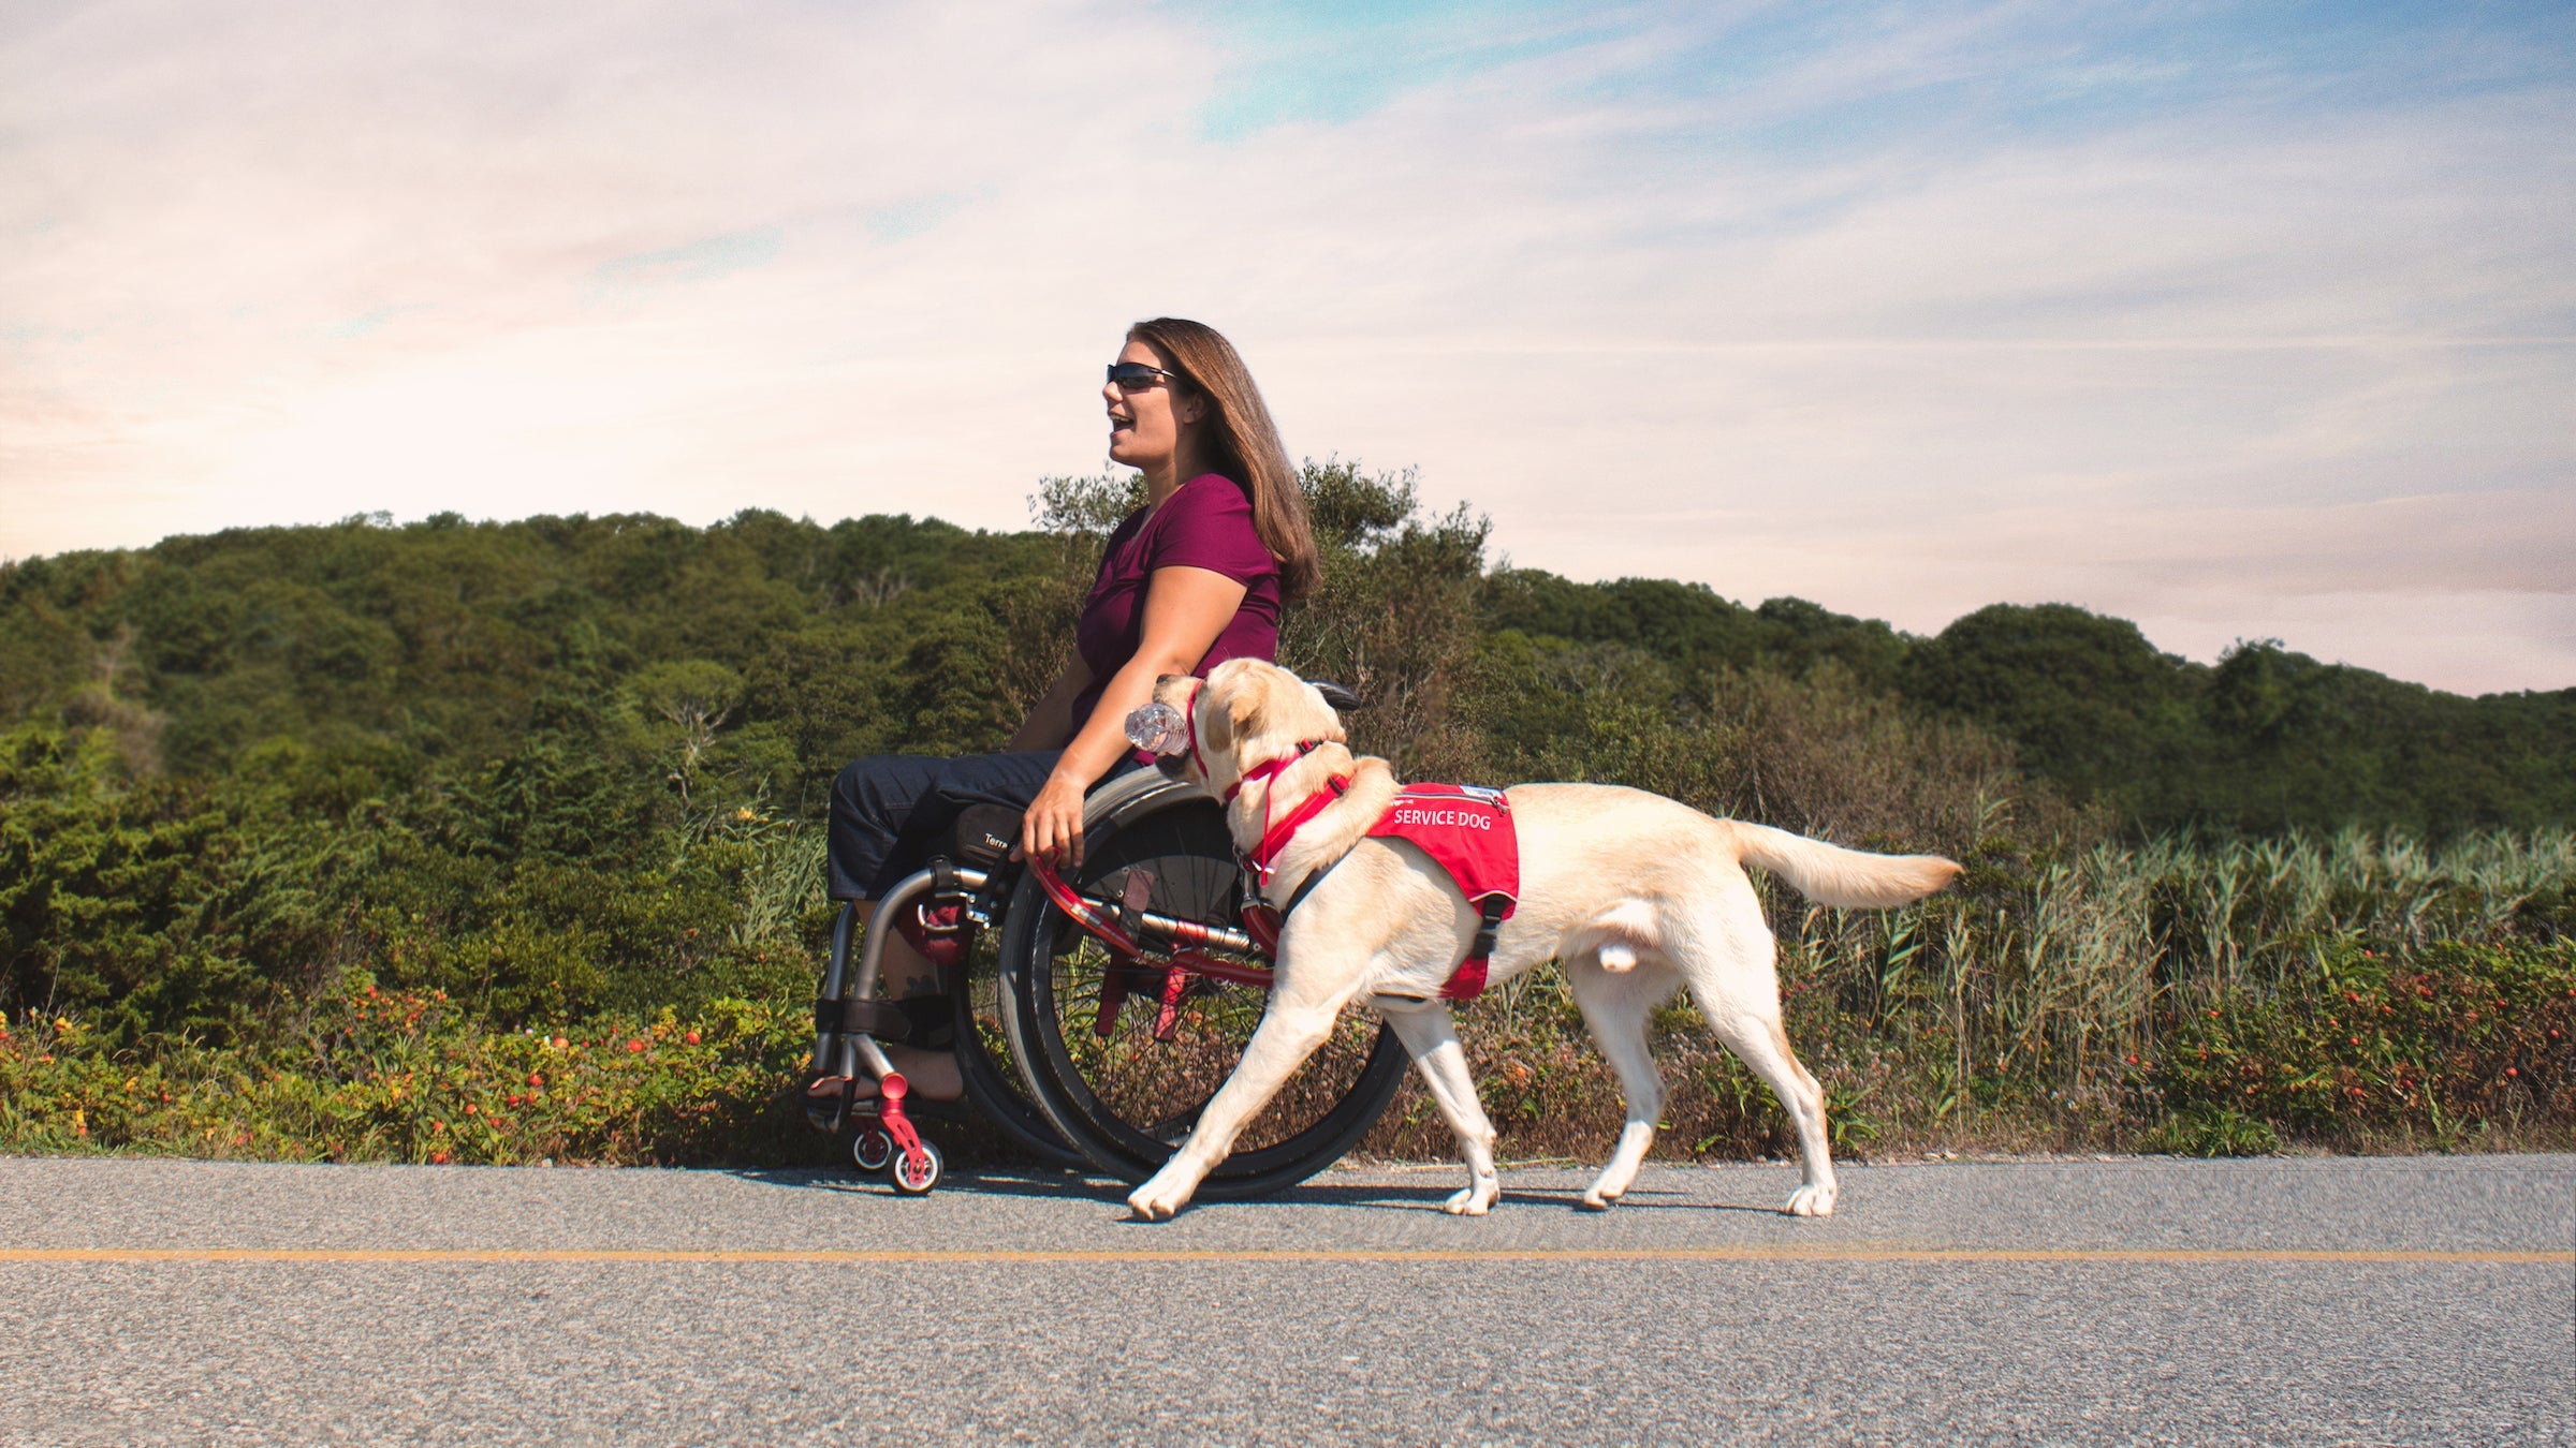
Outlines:
{"label": "pale cloudy sky with blue patches above the wooded hills", "polygon": [[1028,526],[1198,317],[1520,567],[2576,685],[2576,8],[10,0],[0,559]]}

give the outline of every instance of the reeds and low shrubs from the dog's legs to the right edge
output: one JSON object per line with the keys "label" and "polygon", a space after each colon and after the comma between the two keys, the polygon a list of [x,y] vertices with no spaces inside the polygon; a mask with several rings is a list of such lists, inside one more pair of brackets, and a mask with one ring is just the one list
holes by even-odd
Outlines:
{"label": "reeds and low shrubs from the dog's legs to the right edge", "polygon": [[[1765,884],[1790,1038],[1842,1149],[2246,1152],[2576,1144],[2576,832],[1989,837],[1891,912]],[[1788,1149],[1767,1090],[1674,1005],[1659,1149]],[[1548,976],[1463,1020],[1517,1154],[1597,1154],[1618,1090]],[[1406,1100],[1373,1149],[1445,1129]]]}

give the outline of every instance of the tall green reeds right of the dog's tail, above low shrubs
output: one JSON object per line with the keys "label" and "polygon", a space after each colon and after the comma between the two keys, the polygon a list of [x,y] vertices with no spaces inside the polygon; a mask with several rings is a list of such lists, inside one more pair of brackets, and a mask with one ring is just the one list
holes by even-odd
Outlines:
{"label": "tall green reeds right of the dog's tail, above low shrubs", "polygon": [[2177,1013],[2342,989],[2383,974],[2357,966],[2383,948],[2563,935],[2576,832],[2169,835],[2038,861],[1994,843],[1968,866],[1958,889],[1896,912],[1772,889],[1783,956],[1878,1031],[1942,1025],[1963,1077],[1991,1064],[2081,1087],[2151,1054]]}

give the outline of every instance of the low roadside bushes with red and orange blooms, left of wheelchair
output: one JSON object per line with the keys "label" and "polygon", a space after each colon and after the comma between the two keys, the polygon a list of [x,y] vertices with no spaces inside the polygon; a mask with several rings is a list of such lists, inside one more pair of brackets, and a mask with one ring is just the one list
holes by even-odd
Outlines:
{"label": "low roadside bushes with red and orange blooms, left of wheelchair", "polygon": [[0,1149],[270,1162],[796,1162],[801,1010],[714,1000],[492,1031],[363,974],[232,1051],[118,1051],[77,1020],[0,1028]]}

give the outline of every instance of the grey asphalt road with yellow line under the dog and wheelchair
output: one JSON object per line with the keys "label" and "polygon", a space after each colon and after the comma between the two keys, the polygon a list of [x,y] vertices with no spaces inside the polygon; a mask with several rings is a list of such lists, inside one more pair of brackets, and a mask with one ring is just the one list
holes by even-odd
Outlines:
{"label": "grey asphalt road with yellow line under the dog and wheelchair", "polygon": [[2576,1157],[1793,1180],[0,1159],[0,1440],[2576,1440]]}

